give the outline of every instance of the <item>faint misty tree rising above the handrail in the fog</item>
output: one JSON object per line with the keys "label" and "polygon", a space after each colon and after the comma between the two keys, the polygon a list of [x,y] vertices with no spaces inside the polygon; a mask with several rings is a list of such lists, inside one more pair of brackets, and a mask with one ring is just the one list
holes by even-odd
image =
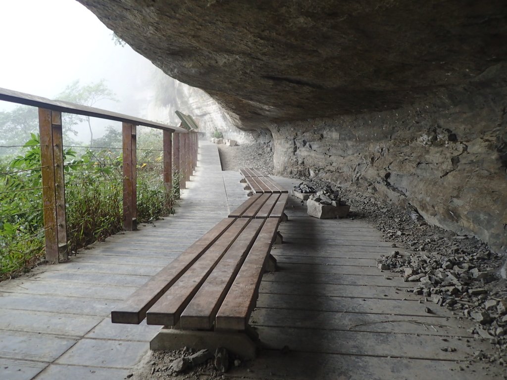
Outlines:
{"label": "faint misty tree rising above the handrail in the fog", "polygon": [[[63,90],[57,99],[78,103],[83,105],[93,106],[101,100],[118,101],[115,93],[111,91],[102,79],[96,83],[80,86],[79,80],[74,81]],[[77,117],[79,121],[86,121],[88,129],[90,130],[90,146],[93,146],[93,131],[89,116]]]}

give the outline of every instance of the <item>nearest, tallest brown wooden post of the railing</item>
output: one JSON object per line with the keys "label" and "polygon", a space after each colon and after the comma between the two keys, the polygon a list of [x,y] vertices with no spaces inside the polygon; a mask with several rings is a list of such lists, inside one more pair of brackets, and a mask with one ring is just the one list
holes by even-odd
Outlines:
{"label": "nearest, tallest brown wooden post of the railing", "polygon": [[61,112],[39,108],[39,132],[46,260],[57,263],[68,258]]}

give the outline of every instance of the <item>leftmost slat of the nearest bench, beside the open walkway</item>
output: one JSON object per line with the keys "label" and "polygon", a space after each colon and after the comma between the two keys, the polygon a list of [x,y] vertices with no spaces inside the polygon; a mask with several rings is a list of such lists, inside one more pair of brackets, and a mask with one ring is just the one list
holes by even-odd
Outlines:
{"label": "leftmost slat of the nearest bench, beside the open walkway", "polygon": [[167,267],[137,289],[111,312],[112,322],[139,324],[146,316],[148,309],[229,229],[235,220],[232,218],[222,219]]}

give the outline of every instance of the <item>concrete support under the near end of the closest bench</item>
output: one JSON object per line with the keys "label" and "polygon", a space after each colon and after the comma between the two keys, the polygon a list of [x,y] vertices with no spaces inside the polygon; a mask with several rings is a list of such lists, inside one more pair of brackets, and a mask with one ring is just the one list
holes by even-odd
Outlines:
{"label": "concrete support under the near end of the closest bench", "polygon": [[195,350],[208,349],[214,353],[224,347],[244,359],[255,359],[258,350],[258,335],[255,330],[237,331],[200,331],[163,328],[151,340],[153,351],[180,350],[190,347]]}

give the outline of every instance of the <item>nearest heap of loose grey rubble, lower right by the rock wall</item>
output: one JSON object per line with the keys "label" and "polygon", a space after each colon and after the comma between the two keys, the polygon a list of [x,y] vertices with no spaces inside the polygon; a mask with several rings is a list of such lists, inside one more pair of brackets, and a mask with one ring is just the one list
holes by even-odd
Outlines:
{"label": "nearest heap of loose grey rubble, lower right by the rock wall", "polygon": [[497,280],[491,255],[488,250],[468,253],[457,247],[449,255],[393,251],[378,260],[378,268],[400,273],[406,282],[415,283],[414,294],[473,319],[478,326],[470,332],[507,350],[507,295],[490,289]]}

